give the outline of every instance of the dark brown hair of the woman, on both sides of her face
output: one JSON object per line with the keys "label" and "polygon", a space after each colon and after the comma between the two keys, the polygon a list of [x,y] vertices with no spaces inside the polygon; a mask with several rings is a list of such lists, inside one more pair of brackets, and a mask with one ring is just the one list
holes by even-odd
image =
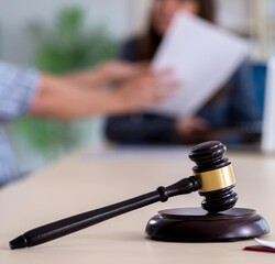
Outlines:
{"label": "dark brown hair of the woman, on both sides of her face", "polygon": [[[196,0],[199,4],[198,16],[209,22],[216,20],[215,0]],[[141,61],[151,61],[162,41],[162,36],[157,34],[153,26],[152,19],[150,20],[146,33],[139,41],[139,57]]]}

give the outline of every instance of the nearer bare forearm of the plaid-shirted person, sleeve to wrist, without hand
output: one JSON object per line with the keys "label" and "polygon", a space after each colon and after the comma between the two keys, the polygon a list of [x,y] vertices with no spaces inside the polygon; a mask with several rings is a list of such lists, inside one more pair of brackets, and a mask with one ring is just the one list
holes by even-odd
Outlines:
{"label": "nearer bare forearm of the plaid-shirted person, sleeve to wrist, without hand", "polygon": [[42,76],[30,114],[54,119],[75,119],[119,113],[124,111],[124,107],[112,91],[77,89],[75,84],[67,79]]}

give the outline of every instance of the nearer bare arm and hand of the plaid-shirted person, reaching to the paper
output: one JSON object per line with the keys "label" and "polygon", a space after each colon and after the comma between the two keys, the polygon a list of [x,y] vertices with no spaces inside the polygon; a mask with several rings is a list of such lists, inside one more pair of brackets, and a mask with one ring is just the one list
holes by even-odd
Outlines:
{"label": "nearer bare arm and hand of the plaid-shirted person, reaching to the paper", "polygon": [[[29,113],[54,119],[135,112],[164,100],[177,84],[163,73],[147,73],[116,89],[79,89],[66,77],[42,75]],[[161,92],[160,92],[161,91]]]}

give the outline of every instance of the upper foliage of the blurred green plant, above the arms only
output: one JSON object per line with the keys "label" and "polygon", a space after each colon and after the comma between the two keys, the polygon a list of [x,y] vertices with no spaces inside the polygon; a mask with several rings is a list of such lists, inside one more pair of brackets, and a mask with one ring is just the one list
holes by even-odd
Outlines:
{"label": "upper foliage of the blurred green plant, above the arms only", "polygon": [[38,42],[35,65],[54,74],[95,66],[117,53],[117,44],[102,25],[85,29],[81,8],[67,7],[57,13],[54,26],[47,30],[31,24]]}

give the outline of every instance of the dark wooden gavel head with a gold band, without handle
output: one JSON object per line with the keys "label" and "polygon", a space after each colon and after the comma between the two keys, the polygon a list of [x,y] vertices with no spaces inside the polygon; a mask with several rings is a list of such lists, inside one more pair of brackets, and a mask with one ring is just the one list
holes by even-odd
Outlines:
{"label": "dark wooden gavel head with a gold band, without handle", "polygon": [[196,145],[189,158],[196,163],[194,176],[200,183],[199,195],[205,199],[201,206],[210,213],[232,208],[238,195],[233,191],[235,179],[231,163],[223,155],[227,147],[219,141]]}

